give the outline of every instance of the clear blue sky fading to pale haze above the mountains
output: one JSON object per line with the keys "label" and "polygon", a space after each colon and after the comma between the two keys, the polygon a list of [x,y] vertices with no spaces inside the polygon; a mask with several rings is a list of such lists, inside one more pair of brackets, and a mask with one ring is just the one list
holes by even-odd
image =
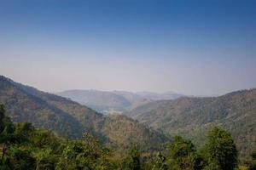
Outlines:
{"label": "clear blue sky fading to pale haze above the mountains", "polygon": [[47,91],[256,88],[255,0],[0,0],[0,75]]}

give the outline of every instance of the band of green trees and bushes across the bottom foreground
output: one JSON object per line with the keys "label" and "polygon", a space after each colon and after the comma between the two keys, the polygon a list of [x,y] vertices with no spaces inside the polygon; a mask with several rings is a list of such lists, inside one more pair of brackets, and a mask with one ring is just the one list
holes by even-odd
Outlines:
{"label": "band of green trees and bushes across the bottom foreground", "polygon": [[30,123],[16,123],[4,115],[0,105],[0,169],[2,170],[232,170],[256,169],[252,160],[238,166],[238,152],[231,134],[218,127],[207,133],[207,142],[198,150],[189,139],[175,137],[166,150],[141,153],[134,146],[125,157],[118,157],[98,140],[84,133],[83,139],[67,140]]}

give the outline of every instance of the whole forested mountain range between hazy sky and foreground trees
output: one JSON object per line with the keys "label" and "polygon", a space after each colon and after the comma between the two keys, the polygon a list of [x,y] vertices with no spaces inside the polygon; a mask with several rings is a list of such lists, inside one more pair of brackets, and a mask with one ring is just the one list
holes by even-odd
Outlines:
{"label": "whole forested mountain range between hazy sky and foreground trees", "polygon": [[[73,95],[77,101],[0,77],[0,103],[14,122],[32,122],[61,136],[78,139],[89,132],[114,148],[137,144],[143,150],[156,150],[174,135],[202,144],[206,132],[218,126],[232,133],[241,156],[248,156],[256,147],[255,88],[218,97],[177,94],[174,99],[151,93],[96,90],[72,90],[61,95]],[[89,100],[95,107],[119,114],[94,111],[86,104]]]}

